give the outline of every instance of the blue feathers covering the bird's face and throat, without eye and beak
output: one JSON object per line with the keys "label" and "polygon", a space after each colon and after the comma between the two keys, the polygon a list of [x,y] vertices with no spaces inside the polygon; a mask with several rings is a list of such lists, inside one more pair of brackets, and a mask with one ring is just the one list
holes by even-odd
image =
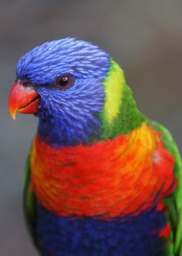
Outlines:
{"label": "blue feathers covering the bird's face and throat, without eye and beak", "polygon": [[[97,114],[104,104],[109,55],[76,39],[45,42],[19,59],[16,73],[29,80],[40,95],[38,132],[56,146],[88,143],[99,136]],[[61,75],[70,86],[57,86]]]}

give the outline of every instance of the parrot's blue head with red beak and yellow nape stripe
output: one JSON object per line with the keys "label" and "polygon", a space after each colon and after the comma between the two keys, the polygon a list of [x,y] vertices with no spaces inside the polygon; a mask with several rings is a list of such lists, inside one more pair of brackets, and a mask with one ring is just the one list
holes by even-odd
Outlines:
{"label": "parrot's blue head with red beak and yellow nape stripe", "polygon": [[98,46],[72,38],[45,42],[19,59],[16,76],[10,114],[38,116],[38,133],[49,143],[73,146],[118,133],[125,79]]}

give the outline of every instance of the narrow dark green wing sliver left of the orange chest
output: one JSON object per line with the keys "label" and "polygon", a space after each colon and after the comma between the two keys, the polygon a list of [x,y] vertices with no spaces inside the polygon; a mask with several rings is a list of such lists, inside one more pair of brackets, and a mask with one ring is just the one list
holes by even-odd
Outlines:
{"label": "narrow dark green wing sliver left of the orange chest", "polygon": [[32,237],[32,241],[36,245],[36,199],[31,185],[30,155],[31,150],[27,157],[27,163],[25,165],[25,180],[23,186],[23,209],[27,226]]}

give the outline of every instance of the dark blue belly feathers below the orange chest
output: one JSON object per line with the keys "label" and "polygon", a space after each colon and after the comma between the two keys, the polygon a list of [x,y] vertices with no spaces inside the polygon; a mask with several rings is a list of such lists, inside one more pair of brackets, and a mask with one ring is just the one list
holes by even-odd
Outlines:
{"label": "dark blue belly feathers below the orange chest", "polygon": [[167,222],[163,212],[101,221],[55,216],[40,204],[36,210],[36,238],[44,256],[168,255],[167,239],[157,236]]}

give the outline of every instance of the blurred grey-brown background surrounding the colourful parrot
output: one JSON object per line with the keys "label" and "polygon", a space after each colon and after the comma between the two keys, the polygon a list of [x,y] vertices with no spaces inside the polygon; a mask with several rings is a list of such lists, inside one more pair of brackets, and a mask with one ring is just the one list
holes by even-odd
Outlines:
{"label": "blurred grey-brown background surrounding the colourful parrot", "polygon": [[0,1],[0,255],[38,255],[21,208],[23,167],[37,120],[8,114],[19,57],[38,44],[77,37],[122,66],[140,110],[172,131],[182,152],[182,1]]}

